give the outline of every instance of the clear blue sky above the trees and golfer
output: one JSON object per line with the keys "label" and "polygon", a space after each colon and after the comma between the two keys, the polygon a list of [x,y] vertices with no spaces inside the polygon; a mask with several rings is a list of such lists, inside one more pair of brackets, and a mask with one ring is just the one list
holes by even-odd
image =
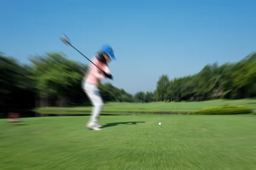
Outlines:
{"label": "clear blue sky above the trees and golfer", "polygon": [[32,54],[63,51],[88,63],[59,36],[92,57],[110,44],[113,85],[153,91],[207,63],[237,62],[256,50],[256,0],[2,0],[0,51],[21,63]]}

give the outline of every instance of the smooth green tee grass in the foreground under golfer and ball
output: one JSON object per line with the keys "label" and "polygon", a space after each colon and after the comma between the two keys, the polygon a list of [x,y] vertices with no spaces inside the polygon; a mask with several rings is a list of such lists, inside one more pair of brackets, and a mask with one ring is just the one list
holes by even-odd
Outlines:
{"label": "smooth green tee grass in the foreground under golfer and ball", "polygon": [[0,169],[256,169],[255,115],[101,116],[101,131],[87,130],[88,119],[1,119]]}

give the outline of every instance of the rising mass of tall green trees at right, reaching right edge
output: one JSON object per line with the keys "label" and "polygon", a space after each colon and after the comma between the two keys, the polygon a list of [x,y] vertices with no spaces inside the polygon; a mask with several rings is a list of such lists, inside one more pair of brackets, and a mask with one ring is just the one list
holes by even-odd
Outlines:
{"label": "rising mass of tall green trees at right, reaching right edge", "polygon": [[168,84],[162,75],[157,82],[154,99],[160,101],[203,101],[210,99],[239,99],[256,96],[256,53],[238,63],[207,64],[199,73],[175,77]]}

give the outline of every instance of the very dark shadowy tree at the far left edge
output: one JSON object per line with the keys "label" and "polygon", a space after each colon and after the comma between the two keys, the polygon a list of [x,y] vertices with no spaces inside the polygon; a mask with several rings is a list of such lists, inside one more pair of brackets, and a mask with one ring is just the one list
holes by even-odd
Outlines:
{"label": "very dark shadowy tree at the far left edge", "polygon": [[0,53],[0,106],[3,111],[34,107],[34,102],[31,102],[34,93],[30,74],[29,67]]}

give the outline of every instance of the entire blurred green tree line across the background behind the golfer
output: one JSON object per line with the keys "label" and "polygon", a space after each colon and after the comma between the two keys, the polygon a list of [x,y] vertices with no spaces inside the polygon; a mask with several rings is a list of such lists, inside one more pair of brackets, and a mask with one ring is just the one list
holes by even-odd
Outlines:
{"label": "entire blurred green tree line across the background behind the golfer", "polygon": [[[89,102],[81,89],[87,65],[62,53],[29,57],[29,65],[0,53],[0,106],[12,108],[67,107]],[[256,53],[237,63],[206,65],[199,73],[169,79],[160,76],[156,90],[135,95],[105,83],[99,85],[105,102],[172,102],[256,97]]]}

